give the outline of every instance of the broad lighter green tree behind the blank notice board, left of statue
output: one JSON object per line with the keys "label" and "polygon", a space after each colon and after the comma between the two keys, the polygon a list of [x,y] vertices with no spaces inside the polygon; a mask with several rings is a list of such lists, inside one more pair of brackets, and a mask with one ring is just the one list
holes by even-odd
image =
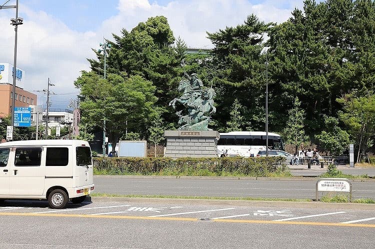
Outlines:
{"label": "broad lighter green tree behind the blank notice board, left of statue", "polygon": [[150,81],[123,72],[108,73],[103,79],[94,72],[82,71],[74,84],[80,88],[82,121],[105,129],[112,152],[125,132],[125,120],[131,130],[145,132],[146,120],[157,100]]}

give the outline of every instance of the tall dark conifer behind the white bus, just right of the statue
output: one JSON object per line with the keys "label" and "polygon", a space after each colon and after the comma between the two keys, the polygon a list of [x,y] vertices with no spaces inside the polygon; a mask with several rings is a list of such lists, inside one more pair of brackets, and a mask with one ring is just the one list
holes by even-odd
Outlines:
{"label": "tall dark conifer behind the white bus, just right of the statue", "polygon": [[[214,48],[211,51],[210,66],[215,103],[219,110],[213,117],[219,127],[230,119],[234,99],[246,106],[243,123],[255,129],[264,128],[265,54],[263,35],[273,23],[264,23],[254,14],[243,24],[226,27],[207,33]],[[271,83],[271,82],[269,82]],[[271,108],[270,108],[271,110]],[[270,113],[270,120],[272,113]]]}

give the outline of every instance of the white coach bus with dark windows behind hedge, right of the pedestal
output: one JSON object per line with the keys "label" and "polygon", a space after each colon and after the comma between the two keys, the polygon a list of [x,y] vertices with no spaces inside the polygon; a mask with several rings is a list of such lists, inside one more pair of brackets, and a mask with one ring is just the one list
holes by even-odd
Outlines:
{"label": "white coach bus with dark windows behind hedge, right of the pedestal", "polygon": [[[265,149],[265,131],[231,131],[220,133],[217,150],[228,156],[254,156],[259,150]],[[284,150],[284,142],[279,134],[268,132],[268,148]]]}

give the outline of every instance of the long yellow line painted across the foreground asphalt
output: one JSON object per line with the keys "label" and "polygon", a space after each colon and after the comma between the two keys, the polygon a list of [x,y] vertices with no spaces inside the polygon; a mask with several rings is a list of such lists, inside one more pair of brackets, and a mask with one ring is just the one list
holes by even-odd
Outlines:
{"label": "long yellow line painted across the foreground asphalt", "polygon": [[[32,213],[32,212],[0,212],[0,216],[39,216],[39,217],[78,217],[78,218],[114,218],[114,219],[154,219],[198,221],[198,218],[184,217],[150,217],[150,216],[121,216],[121,215],[92,215],[92,214],[68,214],[68,213]],[[256,219],[211,219],[213,222],[231,223],[257,223],[257,224],[294,224],[294,225],[320,225],[320,226],[351,226],[351,227],[375,227],[375,224],[309,222],[309,221],[275,221]]]}

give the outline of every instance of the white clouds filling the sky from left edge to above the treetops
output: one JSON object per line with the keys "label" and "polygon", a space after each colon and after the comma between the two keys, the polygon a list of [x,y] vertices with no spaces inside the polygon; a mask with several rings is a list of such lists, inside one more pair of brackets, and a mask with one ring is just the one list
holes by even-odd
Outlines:
{"label": "white clouds filling the sky from left edge to above the treetops", "polygon": [[[295,1],[294,5],[298,2],[301,3]],[[267,1],[253,5],[247,0],[174,0],[161,6],[151,0],[119,0],[117,13],[86,32],[74,31],[54,16],[20,5],[19,16],[24,18],[24,24],[18,26],[17,67],[25,70],[26,90],[46,88],[50,77],[55,93],[76,92],[73,81],[80,70],[89,69],[86,58],[94,57],[91,48],[98,48],[103,36],[111,40],[111,33],[119,34],[121,28],[131,30],[150,16],[164,15],[174,36],[180,36],[188,46],[212,47],[206,31],[241,24],[251,13],[266,22],[286,20],[292,9],[277,7],[279,4]],[[13,63],[14,29],[7,23],[13,14],[14,11],[0,11],[0,61],[8,63]],[[66,96],[67,100],[72,96]],[[38,99],[38,104],[45,101],[41,96]]]}

